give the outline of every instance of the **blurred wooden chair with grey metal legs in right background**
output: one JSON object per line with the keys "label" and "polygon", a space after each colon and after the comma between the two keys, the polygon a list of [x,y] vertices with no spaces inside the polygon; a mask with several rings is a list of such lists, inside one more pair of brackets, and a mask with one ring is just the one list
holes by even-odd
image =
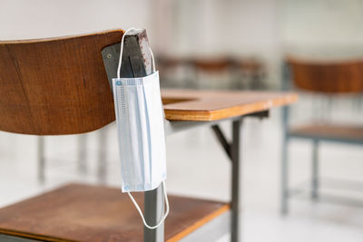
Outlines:
{"label": "blurred wooden chair with grey metal legs in right background", "polygon": [[[319,94],[331,100],[337,96],[358,96],[363,92],[363,61],[311,61],[288,57],[283,68],[284,89],[293,85],[296,89],[310,94]],[[281,170],[281,213],[289,211],[288,200],[292,193],[289,189],[288,144],[291,139],[311,140],[312,199],[319,198],[319,143],[334,141],[350,144],[363,144],[363,125],[341,124],[334,121],[312,121],[298,127],[289,127],[289,108],[283,109],[283,148]]]}

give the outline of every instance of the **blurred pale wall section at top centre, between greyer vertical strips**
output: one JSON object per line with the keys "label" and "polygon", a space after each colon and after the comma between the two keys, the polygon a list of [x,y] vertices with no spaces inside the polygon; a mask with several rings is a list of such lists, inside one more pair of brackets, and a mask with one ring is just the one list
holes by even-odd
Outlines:
{"label": "blurred pale wall section at top centre, between greyer vertical strips", "polygon": [[178,1],[175,40],[189,54],[268,55],[279,48],[276,0]]}

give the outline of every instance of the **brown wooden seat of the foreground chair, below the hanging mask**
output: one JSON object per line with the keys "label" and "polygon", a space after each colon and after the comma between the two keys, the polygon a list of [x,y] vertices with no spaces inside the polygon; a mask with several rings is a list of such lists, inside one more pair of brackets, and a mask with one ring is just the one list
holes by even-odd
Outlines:
{"label": "brown wooden seat of the foreground chair, below the hanging mask", "polygon": [[[134,197],[143,206],[142,193]],[[165,240],[229,211],[221,202],[169,196]],[[44,241],[142,241],[142,218],[120,189],[70,184],[0,209],[0,234]]]}

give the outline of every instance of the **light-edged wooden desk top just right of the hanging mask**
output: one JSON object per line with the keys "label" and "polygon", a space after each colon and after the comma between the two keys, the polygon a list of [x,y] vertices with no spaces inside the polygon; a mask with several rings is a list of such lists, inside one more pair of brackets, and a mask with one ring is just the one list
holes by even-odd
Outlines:
{"label": "light-edged wooden desk top just right of the hanging mask", "polygon": [[170,121],[217,121],[297,100],[292,92],[162,90],[165,118]]}

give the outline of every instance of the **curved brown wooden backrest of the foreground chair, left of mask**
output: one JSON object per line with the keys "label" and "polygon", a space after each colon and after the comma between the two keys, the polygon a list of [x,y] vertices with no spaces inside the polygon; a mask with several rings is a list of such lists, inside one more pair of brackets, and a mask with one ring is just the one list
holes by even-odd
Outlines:
{"label": "curved brown wooden backrest of the foreground chair, left of mask", "polygon": [[74,134],[114,121],[101,51],[123,33],[0,42],[0,130]]}

